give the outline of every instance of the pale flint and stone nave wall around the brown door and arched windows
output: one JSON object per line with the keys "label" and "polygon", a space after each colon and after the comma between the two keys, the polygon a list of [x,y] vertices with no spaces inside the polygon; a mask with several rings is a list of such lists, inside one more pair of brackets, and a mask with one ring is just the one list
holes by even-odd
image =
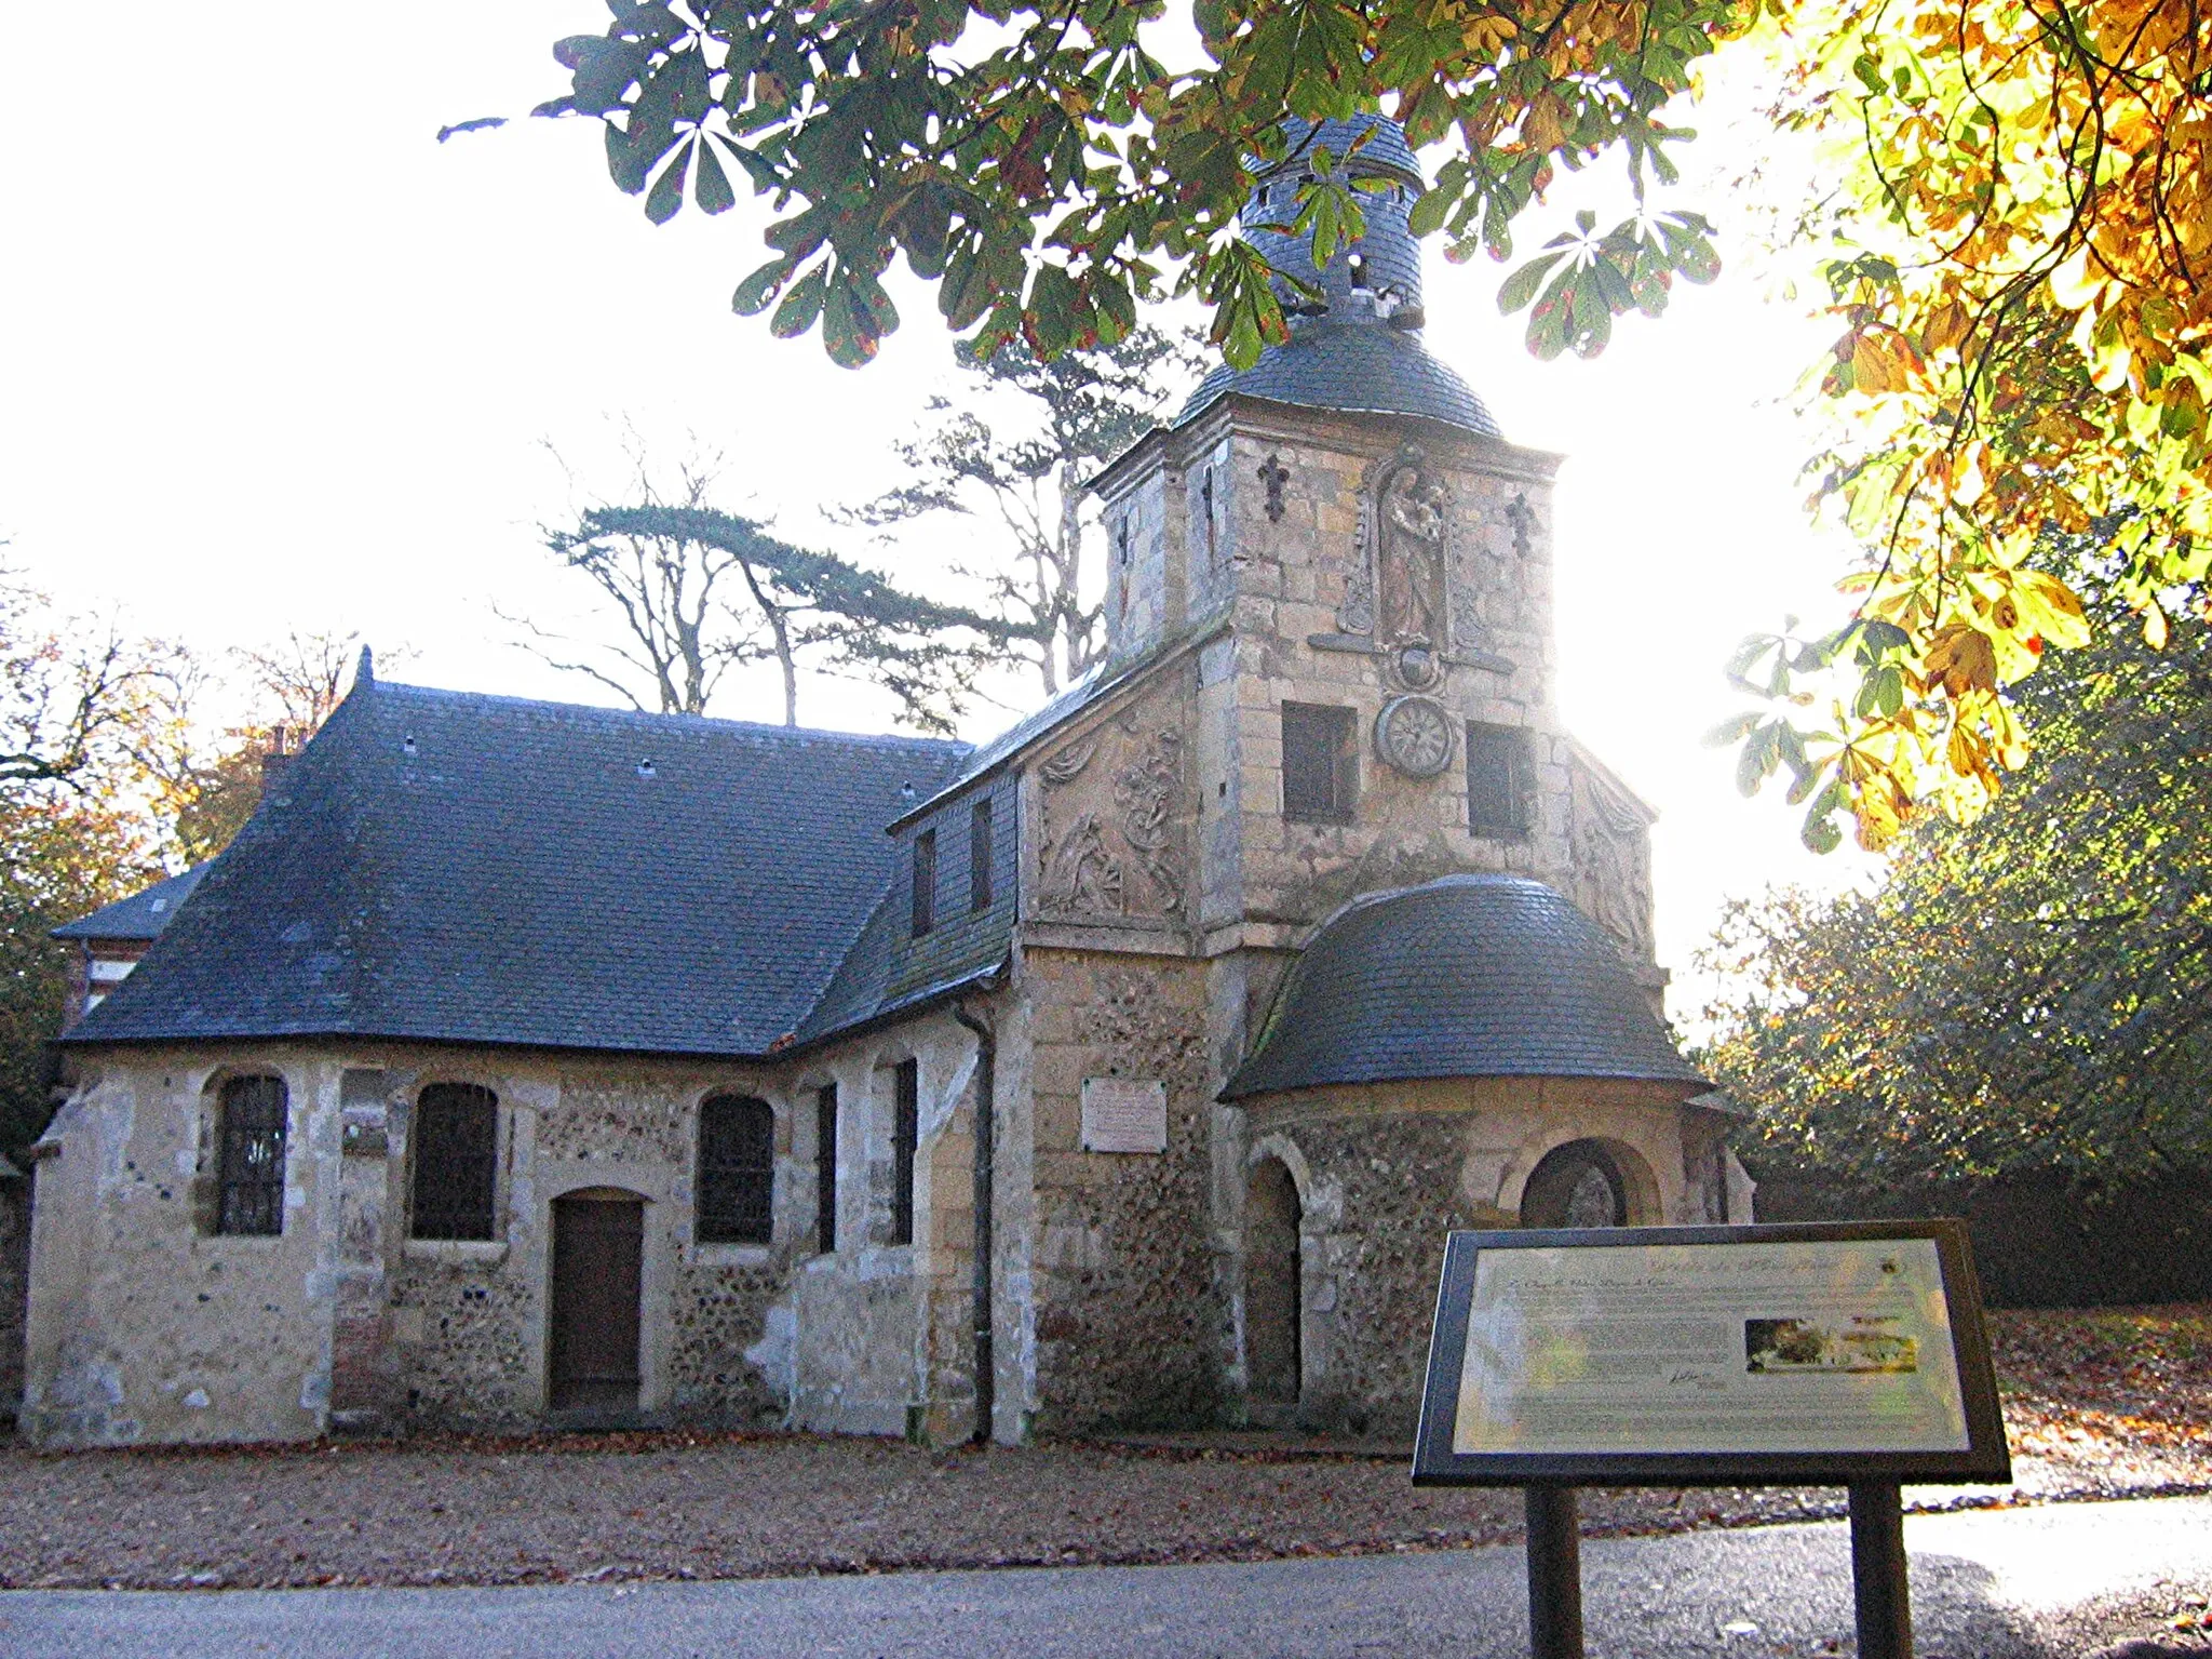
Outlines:
{"label": "pale flint and stone nave wall around the brown door and arched windows", "polygon": [[[338,1409],[363,1427],[538,1422],[551,1203],[586,1186],[646,1199],[639,1409],[745,1425],[783,1416],[776,1356],[763,1349],[794,1243],[810,1237],[812,1179],[790,1170],[790,1099],[754,1073],[526,1053],[458,1062],[398,1046],[133,1053],[86,1071],[40,1175],[49,1197],[22,1413],[33,1440],[314,1436],[330,1427],[334,1371]],[[195,1214],[210,1102],[223,1077],[257,1071],[283,1075],[292,1099],[285,1232],[212,1237]],[[378,1077],[374,1104],[363,1075]],[[478,1082],[500,1097],[489,1243],[405,1237],[411,1102],[429,1082]],[[776,1108],[772,1245],[692,1241],[697,1104],[723,1088]],[[341,1307],[341,1296],[354,1301]]]}

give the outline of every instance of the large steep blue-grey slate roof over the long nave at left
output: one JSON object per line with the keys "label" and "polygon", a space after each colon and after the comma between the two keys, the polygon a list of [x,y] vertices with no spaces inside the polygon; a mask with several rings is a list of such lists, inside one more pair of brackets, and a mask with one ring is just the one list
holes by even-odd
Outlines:
{"label": "large steep blue-grey slate roof over the long nave at left", "polygon": [[872,980],[885,825],[967,754],[365,681],[64,1042],[768,1053]]}

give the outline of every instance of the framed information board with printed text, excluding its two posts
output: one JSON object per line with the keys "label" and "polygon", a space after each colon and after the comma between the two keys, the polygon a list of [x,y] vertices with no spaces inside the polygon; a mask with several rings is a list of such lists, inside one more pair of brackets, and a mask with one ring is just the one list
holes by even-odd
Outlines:
{"label": "framed information board with printed text, excluding its two posts", "polygon": [[1453,1232],[1416,1484],[2011,1480],[1958,1221]]}

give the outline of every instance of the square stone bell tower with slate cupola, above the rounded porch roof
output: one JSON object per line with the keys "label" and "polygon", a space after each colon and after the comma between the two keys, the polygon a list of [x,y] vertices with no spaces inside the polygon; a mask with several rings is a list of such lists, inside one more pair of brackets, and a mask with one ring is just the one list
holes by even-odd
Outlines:
{"label": "square stone bell tower with slate cupola, above the rounded porch roof", "polygon": [[[1332,168],[1367,186],[1365,230],[1316,265],[1283,226]],[[1290,341],[1214,369],[1095,484],[1113,657],[1199,655],[1190,925],[1223,969],[1248,962],[1228,1002],[1250,1004],[1360,894],[1533,876],[1657,998],[1650,814],[1557,719],[1557,458],[1506,442],[1422,343],[1420,188],[1394,122],[1294,124],[1243,215],[1298,279],[1279,290]]]}

